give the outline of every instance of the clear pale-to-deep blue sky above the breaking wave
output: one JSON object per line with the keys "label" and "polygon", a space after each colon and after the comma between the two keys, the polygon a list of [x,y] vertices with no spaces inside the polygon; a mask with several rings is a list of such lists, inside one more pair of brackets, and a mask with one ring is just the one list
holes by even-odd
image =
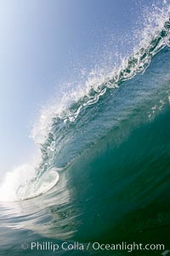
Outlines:
{"label": "clear pale-to-deep blue sky above the breaking wave", "polygon": [[63,83],[114,56],[115,46],[132,48],[152,2],[0,0],[0,174],[29,161],[32,124]]}

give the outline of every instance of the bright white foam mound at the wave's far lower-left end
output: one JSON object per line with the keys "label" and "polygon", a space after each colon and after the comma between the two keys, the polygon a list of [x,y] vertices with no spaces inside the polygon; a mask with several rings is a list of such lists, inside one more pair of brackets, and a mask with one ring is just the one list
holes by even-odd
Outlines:
{"label": "bright white foam mound at the wave's far lower-left end", "polygon": [[33,166],[24,164],[8,172],[0,187],[0,202],[16,202],[40,196],[56,185],[59,174],[50,169],[37,178]]}

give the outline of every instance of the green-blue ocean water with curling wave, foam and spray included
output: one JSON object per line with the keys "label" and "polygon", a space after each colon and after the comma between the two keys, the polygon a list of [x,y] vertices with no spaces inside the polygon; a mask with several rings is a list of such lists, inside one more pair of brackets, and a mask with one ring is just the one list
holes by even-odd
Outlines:
{"label": "green-blue ocean water with curling wave, foam and spray included", "polygon": [[162,243],[131,254],[169,254],[169,12],[166,5],[119,69],[42,113],[33,130],[38,162],[8,173],[0,187],[0,255],[129,254],[94,250],[93,242]]}

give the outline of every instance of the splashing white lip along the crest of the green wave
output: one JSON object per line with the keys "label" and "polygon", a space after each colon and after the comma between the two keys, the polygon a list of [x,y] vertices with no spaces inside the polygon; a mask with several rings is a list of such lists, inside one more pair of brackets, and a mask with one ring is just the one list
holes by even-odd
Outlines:
{"label": "splashing white lip along the crest of the green wave", "polygon": [[39,122],[31,132],[37,145],[48,142],[56,123],[65,125],[75,122],[79,114],[88,105],[93,105],[108,91],[119,88],[122,82],[132,79],[138,73],[144,73],[152,58],[162,48],[170,46],[170,5],[164,3],[162,9],[154,9],[144,30],[140,33],[140,43],[133,49],[133,54],[122,60],[118,69],[98,78],[88,78],[83,87],[65,94],[61,104],[49,105],[42,111]]}

